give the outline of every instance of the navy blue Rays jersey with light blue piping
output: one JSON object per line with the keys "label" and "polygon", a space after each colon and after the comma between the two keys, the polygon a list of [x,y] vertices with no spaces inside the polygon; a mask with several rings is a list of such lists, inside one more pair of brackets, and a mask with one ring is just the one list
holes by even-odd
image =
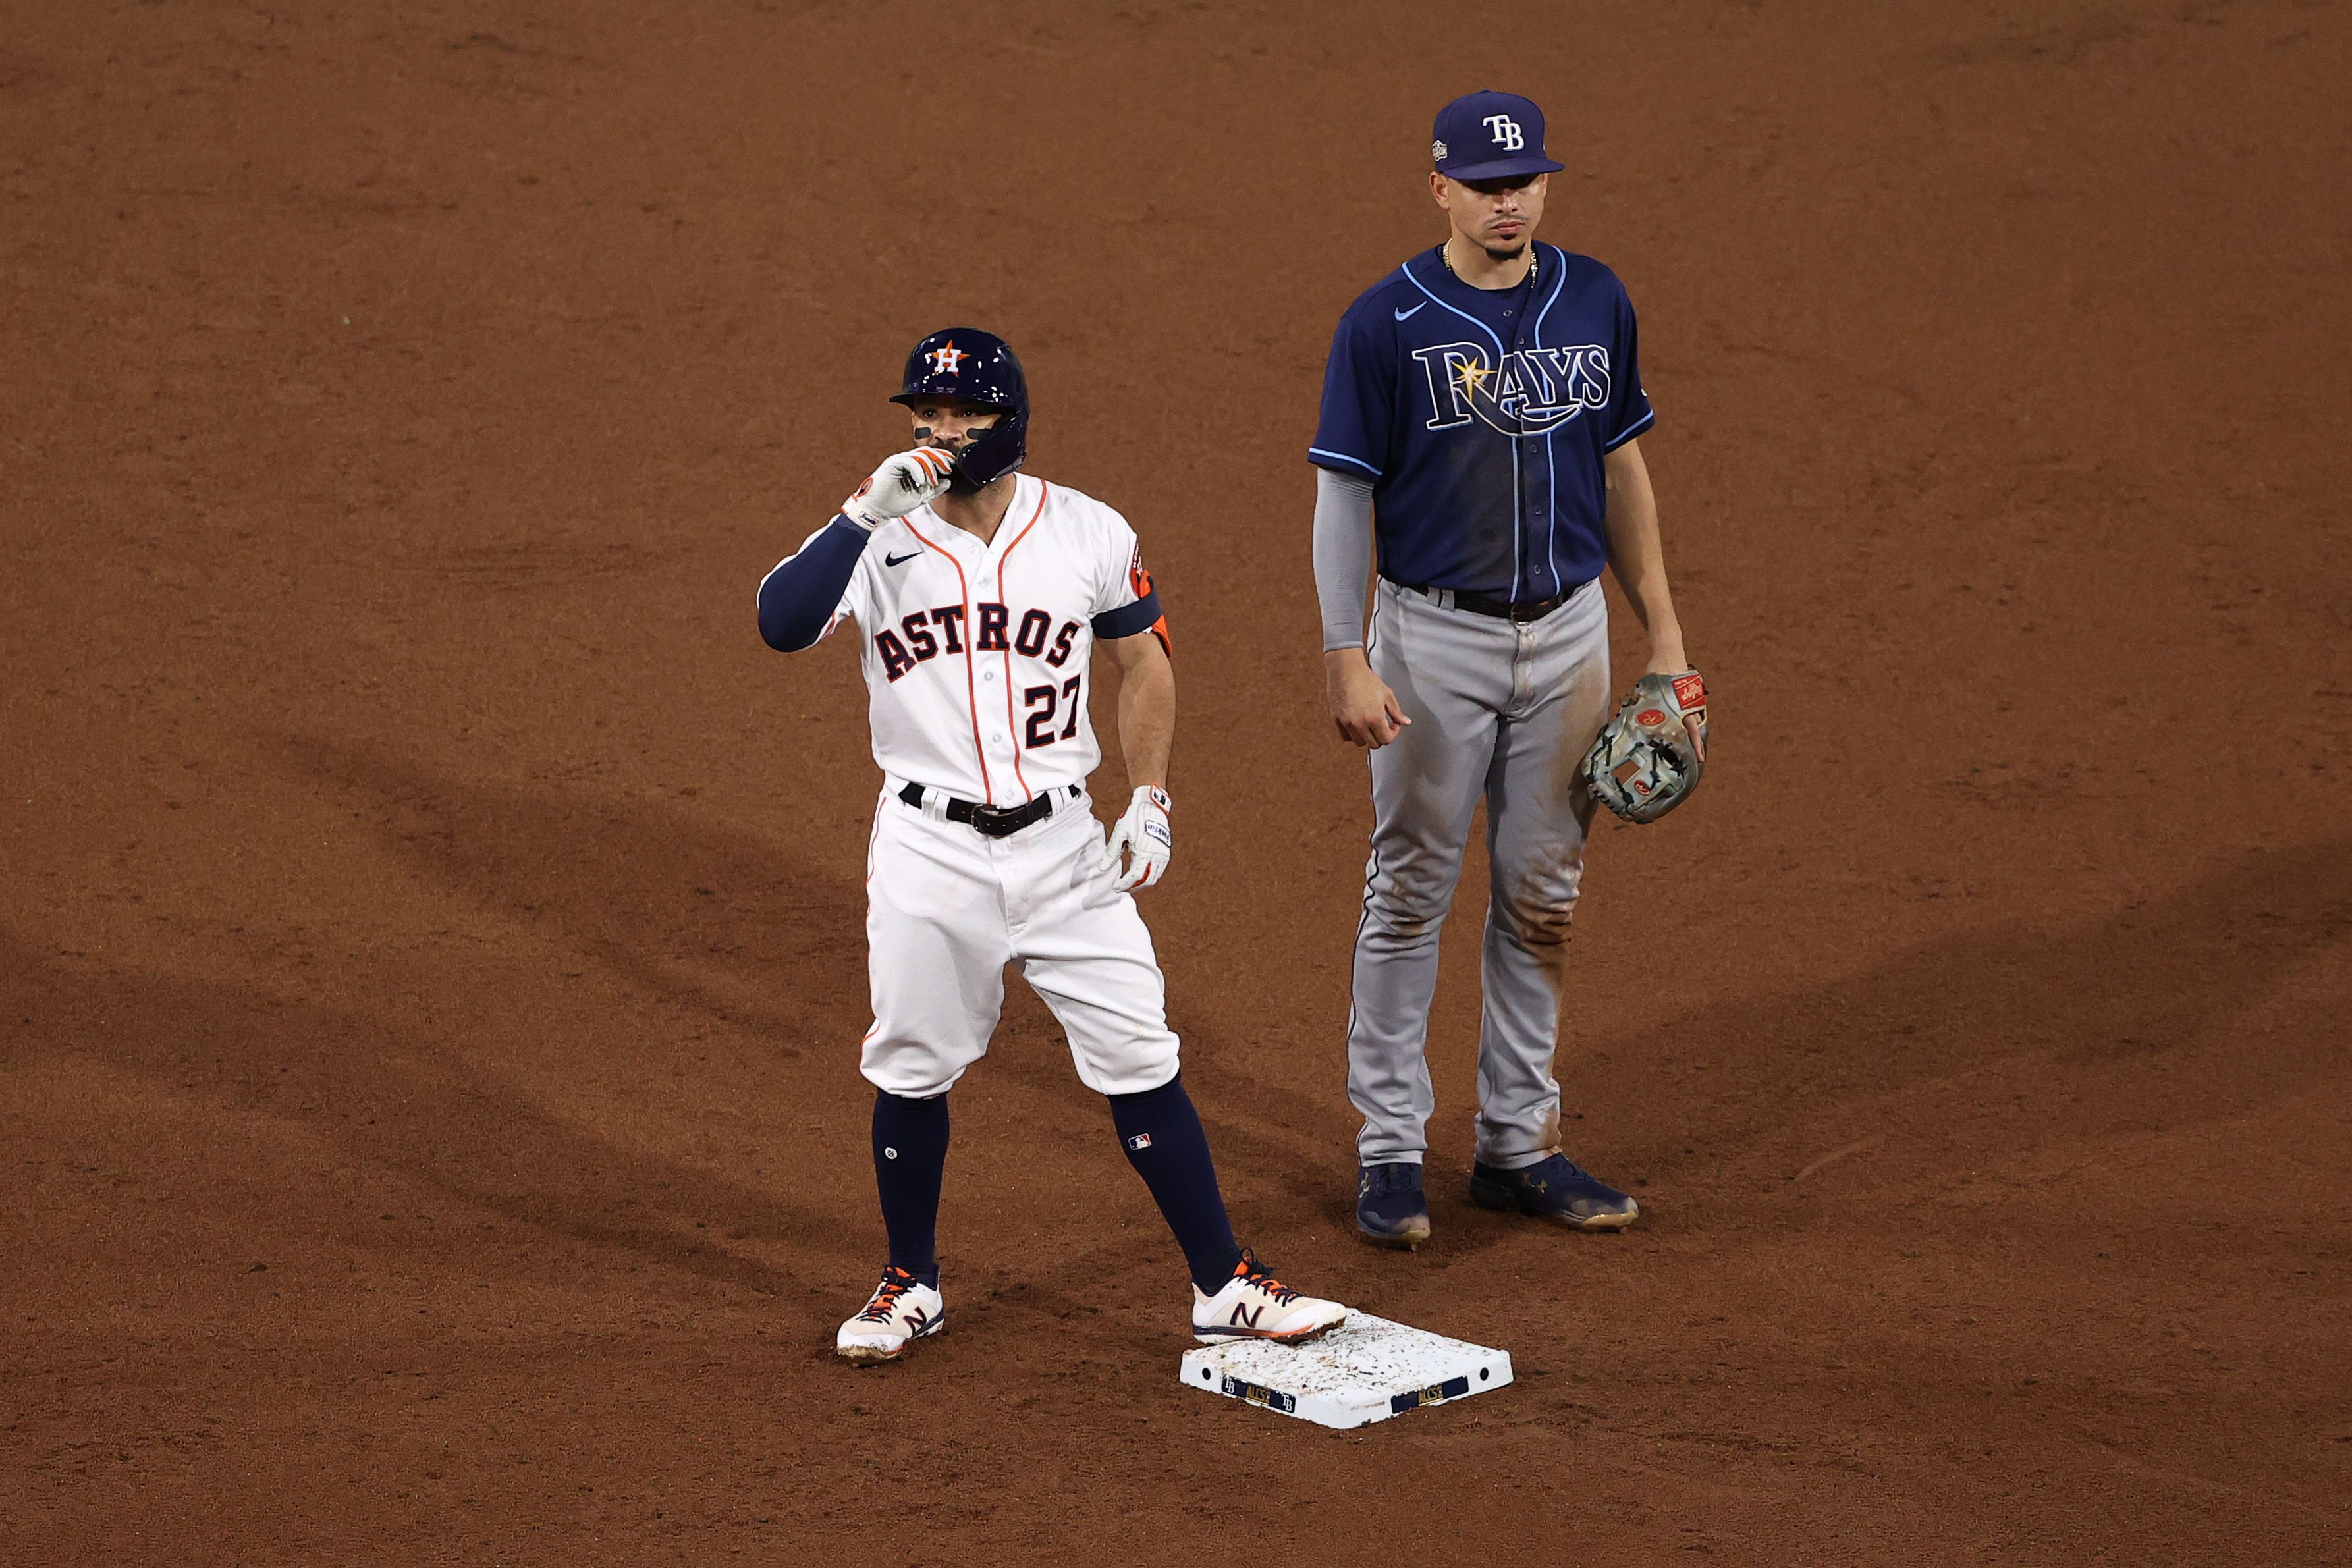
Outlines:
{"label": "navy blue Rays jersey with light blue piping", "polygon": [[1602,454],[1651,418],[1616,273],[1538,244],[1489,292],[1425,249],[1338,320],[1308,458],[1374,480],[1381,576],[1548,599],[1602,574]]}

